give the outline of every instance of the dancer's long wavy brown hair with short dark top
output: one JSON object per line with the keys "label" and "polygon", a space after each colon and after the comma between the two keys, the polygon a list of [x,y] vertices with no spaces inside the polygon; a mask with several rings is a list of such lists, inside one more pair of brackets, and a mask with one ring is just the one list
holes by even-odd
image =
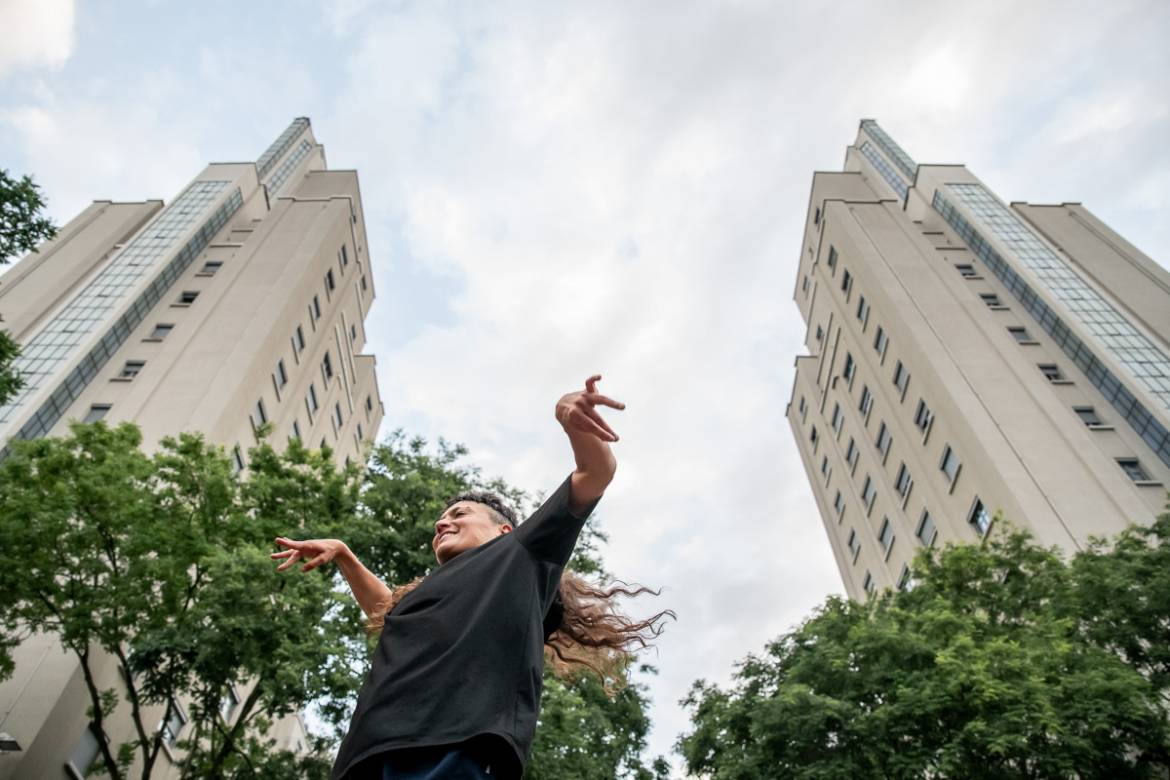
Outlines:
{"label": "dancer's long wavy brown hair with short dark top", "polygon": [[[445,505],[461,501],[483,504],[497,525],[509,523],[515,527],[516,513],[496,493],[469,491],[448,498]],[[388,601],[378,605],[367,628],[380,631],[388,615],[407,593],[417,588],[424,578],[391,588]],[[663,609],[646,620],[634,620],[625,615],[617,605],[618,596],[636,596],[642,593],[660,595],[642,586],[625,582],[599,587],[576,572],[565,571],[560,575],[557,598],[545,621],[546,639],[544,657],[558,678],[571,682],[589,669],[597,675],[607,695],[613,696],[626,684],[626,669],[638,649],[649,647],[649,640],[662,633],[665,617],[676,617],[674,610]],[[559,620],[557,620],[559,613]],[[550,620],[552,621],[550,624]],[[551,631],[551,633],[550,633]]]}

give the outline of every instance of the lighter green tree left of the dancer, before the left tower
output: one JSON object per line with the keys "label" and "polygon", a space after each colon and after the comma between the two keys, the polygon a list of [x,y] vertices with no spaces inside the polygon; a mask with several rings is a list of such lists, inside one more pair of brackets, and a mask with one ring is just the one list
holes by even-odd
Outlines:
{"label": "lighter green tree left of the dancer, before the left tower", "polygon": [[[98,422],[13,442],[0,464],[5,641],[44,631],[77,657],[111,778],[151,776],[165,739],[159,713],[180,700],[190,702],[186,776],[245,767],[277,776],[297,759],[273,750],[267,724],[352,695],[357,682],[345,657],[353,626],[332,584],[275,574],[270,540],[351,515],[358,481],[298,446],[252,450],[240,481],[199,435],[166,439],[153,456],[140,439],[131,423]],[[110,657],[112,677],[103,674]],[[225,723],[233,685],[242,700]],[[103,738],[115,710],[136,734],[123,745]]]}

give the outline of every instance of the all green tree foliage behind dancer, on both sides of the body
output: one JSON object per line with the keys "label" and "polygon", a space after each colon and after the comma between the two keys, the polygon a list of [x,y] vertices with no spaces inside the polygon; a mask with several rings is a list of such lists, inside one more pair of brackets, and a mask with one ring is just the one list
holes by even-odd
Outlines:
{"label": "all green tree foliage behind dancer, on both sides of the body", "polygon": [[[266,432],[261,432],[263,435]],[[136,737],[101,741],[111,778],[149,778],[165,734],[159,711],[181,702],[186,778],[326,778],[367,670],[372,640],[336,570],[277,574],[276,536],[342,538],[392,584],[433,565],[431,538],[446,497],[497,490],[525,496],[463,465],[466,449],[394,432],[370,468],[338,470],[329,450],[298,442],[249,450],[247,478],[200,435],[140,450],[132,423],[74,423],[70,435],[13,442],[0,463],[0,677],[11,648],[32,631],[60,639],[80,662],[95,733],[129,718]],[[601,571],[590,526],[579,571]],[[103,655],[104,654],[104,655]],[[116,681],[101,675],[112,656]],[[225,720],[229,691],[240,703]],[[534,766],[557,778],[647,780],[642,688],[614,700],[599,685],[549,682],[550,719]],[[329,727],[295,755],[267,737],[278,718],[311,707]],[[117,711],[117,716],[115,716]],[[557,724],[579,720],[584,731]],[[581,741],[584,740],[584,741]],[[591,764],[570,771],[586,752]],[[573,772],[577,772],[576,774]]]}

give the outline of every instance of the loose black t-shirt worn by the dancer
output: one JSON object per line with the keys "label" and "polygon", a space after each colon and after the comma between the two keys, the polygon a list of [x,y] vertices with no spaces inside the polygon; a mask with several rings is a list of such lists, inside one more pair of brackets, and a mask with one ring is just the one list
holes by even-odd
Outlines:
{"label": "loose black t-shirt worn by the dancer", "polygon": [[597,505],[574,517],[570,479],[511,533],[432,570],[386,615],[335,780],[377,753],[468,740],[488,745],[494,774],[521,776],[541,706],[544,617]]}

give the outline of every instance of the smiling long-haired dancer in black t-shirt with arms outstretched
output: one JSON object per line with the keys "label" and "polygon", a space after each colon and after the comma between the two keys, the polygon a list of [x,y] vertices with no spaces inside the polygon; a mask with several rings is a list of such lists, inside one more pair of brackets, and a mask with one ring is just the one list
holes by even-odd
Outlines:
{"label": "smiling long-haired dancer in black t-shirt with arms outstretched", "polygon": [[517,779],[536,732],[545,657],[569,678],[587,668],[607,690],[634,646],[661,631],[669,610],[646,621],[614,599],[646,588],[596,588],[565,574],[586,518],[613,479],[618,436],[597,406],[625,405],[585,391],[557,401],[556,419],[576,468],[523,523],[496,495],[452,497],[435,523],[438,567],[390,588],[338,539],[278,538],[284,571],[336,561],[380,631],[378,648],[333,764],[333,778]]}

